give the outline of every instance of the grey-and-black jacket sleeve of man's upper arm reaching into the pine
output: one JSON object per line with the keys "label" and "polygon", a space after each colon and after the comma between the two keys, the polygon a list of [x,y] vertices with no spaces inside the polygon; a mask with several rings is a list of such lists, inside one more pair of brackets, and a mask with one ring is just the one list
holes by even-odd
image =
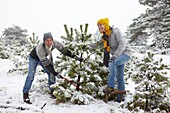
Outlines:
{"label": "grey-and-black jacket sleeve of man's upper arm reaching into the pine", "polygon": [[72,54],[70,50],[64,48],[63,45],[56,40],[54,41],[54,47],[57,48],[62,54],[66,55],[66,56],[69,56],[71,58],[75,57],[75,55]]}

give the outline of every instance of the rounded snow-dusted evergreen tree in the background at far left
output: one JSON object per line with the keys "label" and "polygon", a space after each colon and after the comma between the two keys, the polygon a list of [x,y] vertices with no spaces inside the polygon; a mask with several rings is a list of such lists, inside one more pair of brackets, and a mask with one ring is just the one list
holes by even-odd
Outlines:
{"label": "rounded snow-dusted evergreen tree in the background at far left", "polygon": [[10,59],[20,54],[21,46],[27,43],[27,30],[19,26],[6,28],[2,33],[4,54]]}

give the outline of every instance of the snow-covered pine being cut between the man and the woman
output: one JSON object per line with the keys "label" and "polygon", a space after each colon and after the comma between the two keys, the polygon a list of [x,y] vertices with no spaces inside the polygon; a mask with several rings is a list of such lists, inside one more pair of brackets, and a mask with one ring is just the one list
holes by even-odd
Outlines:
{"label": "snow-covered pine being cut between the man and the woman", "polygon": [[76,59],[61,55],[57,58],[56,67],[64,77],[78,86],[80,85],[83,91],[82,93],[78,92],[77,88],[66,81],[61,82],[55,86],[56,101],[69,100],[76,104],[87,104],[92,98],[100,98],[102,96],[100,89],[106,85],[107,70],[102,64],[102,52],[99,48],[91,48],[90,45],[96,43],[97,39],[94,40],[92,35],[87,33],[88,24],[85,24],[84,28],[83,25],[80,25],[80,31],[73,30],[73,28],[70,28],[69,31],[67,25],[64,25],[64,28],[66,36],[61,37],[63,45],[78,57],[83,57],[84,61],[79,62]]}

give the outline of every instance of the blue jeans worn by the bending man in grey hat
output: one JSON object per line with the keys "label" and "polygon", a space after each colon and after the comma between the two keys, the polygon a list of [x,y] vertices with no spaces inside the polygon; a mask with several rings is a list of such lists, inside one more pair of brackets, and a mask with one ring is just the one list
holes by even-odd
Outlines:
{"label": "blue jeans worn by the bending man in grey hat", "polygon": [[50,72],[43,66],[43,64],[39,60],[34,59],[29,56],[28,76],[26,78],[25,85],[23,87],[23,93],[29,92],[29,90],[32,86],[32,82],[34,80],[34,75],[35,75],[36,68],[37,68],[38,64],[40,64],[42,66],[42,68],[44,69],[44,71],[48,74],[49,89],[51,92],[53,92],[53,89],[50,88],[50,85],[55,83],[55,81],[56,81],[55,77],[52,74],[50,74]]}

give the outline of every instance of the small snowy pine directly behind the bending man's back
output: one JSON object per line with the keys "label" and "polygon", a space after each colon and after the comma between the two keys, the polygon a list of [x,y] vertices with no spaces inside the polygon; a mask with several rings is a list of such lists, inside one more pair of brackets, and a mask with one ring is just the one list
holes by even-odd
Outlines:
{"label": "small snowy pine directly behind the bending man's back", "polygon": [[13,56],[11,60],[14,64],[14,67],[9,70],[9,73],[17,72],[26,74],[28,72],[29,54],[40,41],[38,40],[38,37],[35,37],[35,33],[32,34],[32,37],[26,39],[27,43],[25,45],[18,43],[12,50],[9,50],[10,54]]}

